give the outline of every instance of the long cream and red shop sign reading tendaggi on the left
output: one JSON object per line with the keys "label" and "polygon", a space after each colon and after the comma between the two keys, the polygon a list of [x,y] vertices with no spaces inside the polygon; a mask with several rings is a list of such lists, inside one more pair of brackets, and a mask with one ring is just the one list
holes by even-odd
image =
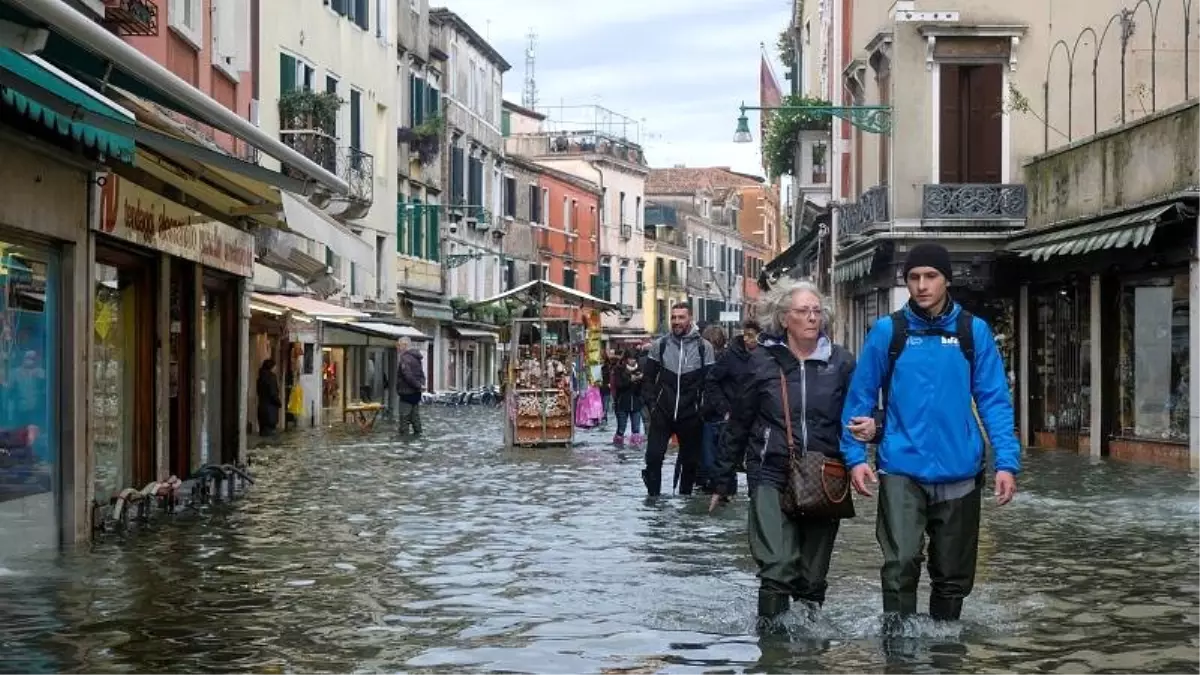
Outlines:
{"label": "long cream and red shop sign reading tendaggi on the left", "polygon": [[205,267],[254,276],[254,237],[108,174],[92,228]]}

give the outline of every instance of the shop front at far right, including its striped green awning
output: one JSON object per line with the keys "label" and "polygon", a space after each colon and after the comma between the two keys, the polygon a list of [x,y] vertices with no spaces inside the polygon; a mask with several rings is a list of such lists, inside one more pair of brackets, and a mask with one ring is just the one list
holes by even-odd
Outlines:
{"label": "shop front at far right, including its striped green awning", "polygon": [[1194,237],[1193,211],[1168,203],[1009,244],[1025,442],[1188,466]]}

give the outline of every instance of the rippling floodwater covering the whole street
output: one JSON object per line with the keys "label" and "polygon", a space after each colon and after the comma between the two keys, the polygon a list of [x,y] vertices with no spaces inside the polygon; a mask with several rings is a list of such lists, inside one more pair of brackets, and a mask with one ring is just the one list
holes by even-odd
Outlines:
{"label": "rippling floodwater covering the whole street", "polygon": [[[584,432],[504,452],[499,411],[426,437],[296,435],[232,506],[0,567],[0,670],[246,673],[1194,671],[1200,480],[1060,453],[984,512],[961,623],[882,639],[874,504],[829,602],[752,633],[745,502],[647,504],[641,458]],[[668,458],[670,459],[670,458]]]}

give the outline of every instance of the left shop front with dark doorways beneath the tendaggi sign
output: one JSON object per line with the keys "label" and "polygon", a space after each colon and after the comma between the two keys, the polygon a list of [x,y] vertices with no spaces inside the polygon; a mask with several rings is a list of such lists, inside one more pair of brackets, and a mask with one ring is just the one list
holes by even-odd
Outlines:
{"label": "left shop front with dark doorways beneath the tendaggi sign", "polygon": [[244,456],[254,241],[115,174],[96,183],[92,490],[107,504]]}

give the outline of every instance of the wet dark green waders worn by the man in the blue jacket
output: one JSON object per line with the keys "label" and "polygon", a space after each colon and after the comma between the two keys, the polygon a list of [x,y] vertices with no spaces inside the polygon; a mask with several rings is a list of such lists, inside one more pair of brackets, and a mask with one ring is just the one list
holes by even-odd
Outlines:
{"label": "wet dark green waders worn by the man in the blue jacket", "polygon": [[929,614],[940,621],[959,619],[962,601],[974,587],[982,486],[980,473],[970,494],[934,502],[911,478],[880,476],[875,538],[883,551],[884,613],[917,613],[922,546],[928,537]]}

